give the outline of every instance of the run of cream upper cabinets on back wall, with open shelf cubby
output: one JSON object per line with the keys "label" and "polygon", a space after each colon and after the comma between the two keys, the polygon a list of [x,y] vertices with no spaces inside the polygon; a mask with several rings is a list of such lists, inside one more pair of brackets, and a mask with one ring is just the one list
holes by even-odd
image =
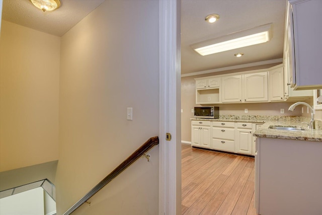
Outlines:
{"label": "run of cream upper cabinets on back wall, with open shelf cubby", "polygon": [[[284,62],[287,63],[288,59]],[[312,97],[312,90],[294,91],[290,88],[289,70],[288,64],[280,64],[234,75],[197,78],[196,104],[293,102]],[[320,80],[322,82],[322,78]]]}

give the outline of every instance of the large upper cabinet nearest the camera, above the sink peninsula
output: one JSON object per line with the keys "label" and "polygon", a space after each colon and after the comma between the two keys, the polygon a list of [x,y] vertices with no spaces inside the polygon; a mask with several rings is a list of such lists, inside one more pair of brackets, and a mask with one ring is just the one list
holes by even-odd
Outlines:
{"label": "large upper cabinet nearest the camera, above the sink peninsula", "polygon": [[284,54],[296,90],[322,89],[321,11],[320,0],[288,1]]}

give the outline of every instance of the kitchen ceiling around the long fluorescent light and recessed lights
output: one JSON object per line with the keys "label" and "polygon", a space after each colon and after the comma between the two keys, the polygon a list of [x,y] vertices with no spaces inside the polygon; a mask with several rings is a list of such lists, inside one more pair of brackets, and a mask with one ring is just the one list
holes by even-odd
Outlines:
{"label": "kitchen ceiling around the long fluorescent light and recessed lights", "polygon": [[[283,57],[287,0],[182,0],[181,73],[235,66]],[[204,21],[219,14],[213,24]],[[201,56],[190,45],[233,32],[272,23],[272,39],[263,44]],[[244,56],[235,57],[242,52]]]}

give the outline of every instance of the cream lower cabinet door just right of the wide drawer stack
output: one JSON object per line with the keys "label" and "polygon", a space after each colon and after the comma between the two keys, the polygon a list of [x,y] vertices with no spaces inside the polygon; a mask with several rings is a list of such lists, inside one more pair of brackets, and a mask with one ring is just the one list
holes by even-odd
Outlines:
{"label": "cream lower cabinet door just right of the wide drawer stack", "polygon": [[252,130],[251,129],[237,129],[237,145],[236,153],[252,155]]}

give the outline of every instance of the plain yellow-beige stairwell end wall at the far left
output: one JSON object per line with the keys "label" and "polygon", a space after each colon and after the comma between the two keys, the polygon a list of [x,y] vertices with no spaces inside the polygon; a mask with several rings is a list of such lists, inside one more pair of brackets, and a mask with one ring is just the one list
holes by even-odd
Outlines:
{"label": "plain yellow-beige stairwell end wall at the far left", "polygon": [[58,159],[60,38],[2,21],[0,172]]}

